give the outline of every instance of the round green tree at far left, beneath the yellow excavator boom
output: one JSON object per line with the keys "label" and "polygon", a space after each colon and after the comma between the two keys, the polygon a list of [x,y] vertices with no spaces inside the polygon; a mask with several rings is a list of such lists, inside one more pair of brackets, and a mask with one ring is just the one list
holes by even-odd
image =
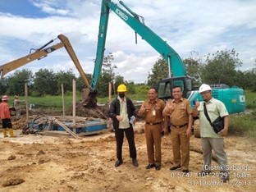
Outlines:
{"label": "round green tree at far left, beneath the yellow excavator boom", "polygon": [[25,94],[25,83],[30,87],[33,83],[34,75],[32,71],[23,69],[17,70],[7,78],[7,94]]}

